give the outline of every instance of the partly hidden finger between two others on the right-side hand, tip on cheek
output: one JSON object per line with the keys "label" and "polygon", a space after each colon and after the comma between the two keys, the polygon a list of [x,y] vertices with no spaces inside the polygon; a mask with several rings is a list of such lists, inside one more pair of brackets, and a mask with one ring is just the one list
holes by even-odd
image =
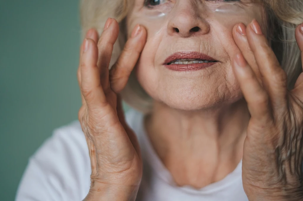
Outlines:
{"label": "partly hidden finger between two others on the right-side hand, tip on cheek", "polygon": [[256,77],[260,83],[261,75],[258,69],[258,65],[254,56],[254,53],[251,51],[251,48],[248,44],[247,37],[246,37],[246,26],[243,23],[236,24],[232,30],[232,35],[234,37],[235,43],[240,49],[244,59],[248,62],[248,65],[256,74]]}

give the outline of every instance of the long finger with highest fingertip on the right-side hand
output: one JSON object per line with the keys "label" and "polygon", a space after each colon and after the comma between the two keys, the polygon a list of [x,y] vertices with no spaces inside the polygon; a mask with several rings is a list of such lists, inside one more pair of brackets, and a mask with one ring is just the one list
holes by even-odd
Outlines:
{"label": "long finger with highest fingertip on the right-side hand", "polygon": [[268,41],[262,34],[261,27],[256,20],[247,26],[246,34],[262,76],[262,83],[267,89],[271,101],[276,106],[281,107],[281,104],[286,103],[287,75],[280,67],[275,53],[268,45]]}

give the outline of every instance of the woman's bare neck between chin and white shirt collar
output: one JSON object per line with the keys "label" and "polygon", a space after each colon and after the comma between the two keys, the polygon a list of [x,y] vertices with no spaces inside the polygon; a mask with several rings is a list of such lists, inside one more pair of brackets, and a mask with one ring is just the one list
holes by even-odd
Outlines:
{"label": "woman's bare neck between chin and white shirt collar", "polygon": [[199,111],[176,110],[156,102],[145,127],[175,182],[202,188],[236,168],[249,118],[243,100]]}

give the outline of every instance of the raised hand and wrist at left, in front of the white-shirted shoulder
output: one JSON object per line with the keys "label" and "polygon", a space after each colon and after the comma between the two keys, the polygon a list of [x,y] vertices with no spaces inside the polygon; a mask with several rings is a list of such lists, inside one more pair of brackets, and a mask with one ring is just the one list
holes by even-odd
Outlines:
{"label": "raised hand and wrist at left, in front of the white-shirted shoulder", "polygon": [[134,132],[126,125],[117,94],[125,87],[146,42],[146,30],[137,25],[109,68],[119,25],[109,18],[98,38],[86,34],[80,49],[78,81],[82,107],[78,118],[91,160],[91,187],[85,200],[134,200],[142,177],[142,160]]}

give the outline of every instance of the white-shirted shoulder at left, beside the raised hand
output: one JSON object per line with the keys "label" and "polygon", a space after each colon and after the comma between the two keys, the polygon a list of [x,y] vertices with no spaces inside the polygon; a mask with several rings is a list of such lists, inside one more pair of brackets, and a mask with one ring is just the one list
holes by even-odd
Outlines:
{"label": "white-shirted shoulder at left, beside the raised hand", "polygon": [[54,130],[28,161],[16,201],[82,200],[90,186],[90,159],[80,123]]}

